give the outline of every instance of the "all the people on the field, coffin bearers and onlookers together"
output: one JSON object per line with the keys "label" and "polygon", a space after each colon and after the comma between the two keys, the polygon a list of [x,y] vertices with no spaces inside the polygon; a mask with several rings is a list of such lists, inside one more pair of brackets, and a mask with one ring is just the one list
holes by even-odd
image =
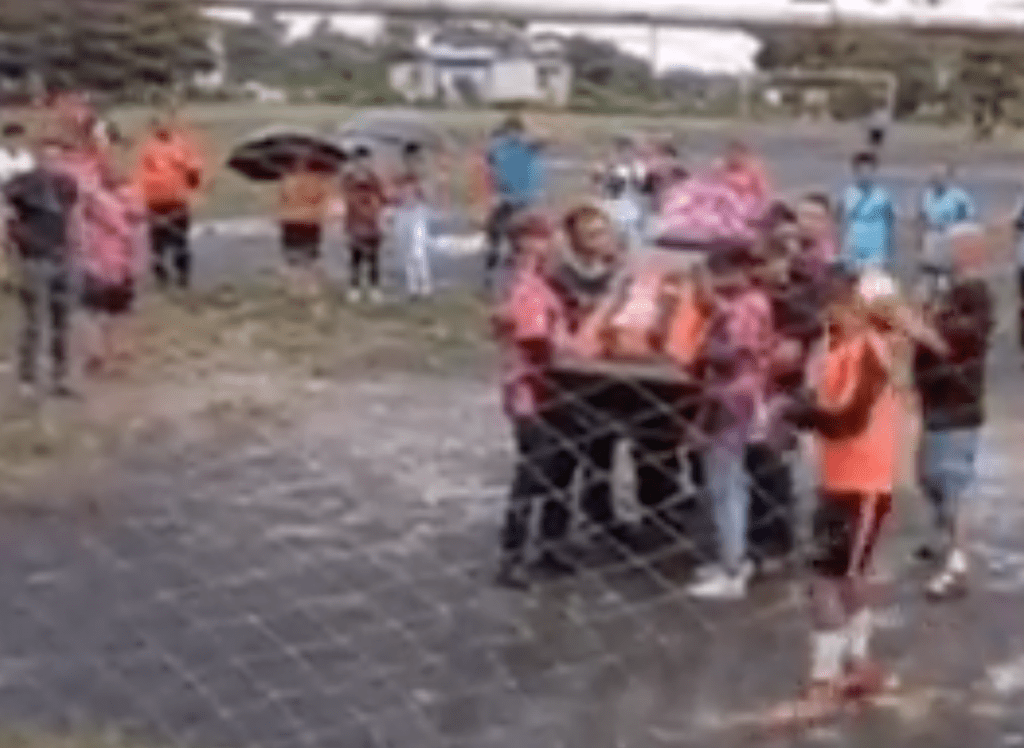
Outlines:
{"label": "all the people on the field, coffin bearers and onlookers together", "polygon": [[[79,305],[89,321],[86,369],[98,374],[125,356],[121,327],[146,257],[158,287],[188,288],[191,207],[209,168],[173,117],[153,122],[126,173],[110,153],[117,138],[87,103],[72,97],[51,108],[58,126],[31,150],[18,144],[24,129],[4,129],[0,181],[24,320],[19,383],[38,391],[45,338],[48,388],[69,396],[69,335]],[[432,292],[422,149],[407,144],[400,161],[397,177],[387,180],[366,148],[346,157],[340,174],[312,156],[289,166],[279,185],[279,222],[295,293],[323,291],[323,234],[332,216],[346,235],[350,300],[381,298],[389,216],[410,295]],[[759,571],[797,548],[797,494],[807,483],[797,473],[809,468],[818,501],[809,528],[815,620],[804,706],[814,713],[880,688],[884,672],[868,657],[869,564],[892,511],[910,414],[901,362],[912,371],[924,421],[919,477],[935,537],[920,555],[936,564],[927,592],[943,598],[967,583],[962,501],[985,420],[994,313],[977,208],[951,168],[936,169],[922,191],[921,293],[911,295],[891,272],[896,211],[878,178],[877,151],[854,156],[852,183],[835,205],[817,193],[787,203],[741,142],[730,143],[707,173],[691,174],[671,140],[621,138],[594,172],[594,199],[563,214],[550,208],[544,149],[521,119],[493,133],[484,163],[493,196],[484,283],[509,271],[496,294],[494,326],[517,450],[500,583],[522,588],[539,574],[575,571],[569,529],[578,509],[592,540],[648,553],[692,531],[696,495],[708,504],[715,556],[696,570],[688,593],[741,598]],[[701,203],[701,191],[714,198]],[[687,220],[700,228],[732,225],[734,216],[715,215],[723,205],[745,211],[746,240],[697,247],[703,260],[682,280],[690,293],[664,304],[669,317],[699,322],[673,343],[684,354],[663,357],[686,382],[685,397],[638,405],[654,414],[595,431],[593,403],[566,389],[559,361],[601,358],[603,333],[588,338],[585,331],[609,298],[632,293],[636,258],[658,232]],[[679,251],[692,255],[694,247]],[[640,336],[666,337],[652,330]],[[612,474],[623,440],[644,510],[640,525],[616,511]]]}

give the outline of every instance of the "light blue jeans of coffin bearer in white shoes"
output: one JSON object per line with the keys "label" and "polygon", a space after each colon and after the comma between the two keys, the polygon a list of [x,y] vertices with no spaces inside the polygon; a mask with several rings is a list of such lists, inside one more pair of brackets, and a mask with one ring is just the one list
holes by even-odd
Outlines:
{"label": "light blue jeans of coffin bearer in white shoes", "polygon": [[746,558],[751,491],[742,450],[711,445],[705,453],[708,493],[718,533],[719,562],[730,572]]}

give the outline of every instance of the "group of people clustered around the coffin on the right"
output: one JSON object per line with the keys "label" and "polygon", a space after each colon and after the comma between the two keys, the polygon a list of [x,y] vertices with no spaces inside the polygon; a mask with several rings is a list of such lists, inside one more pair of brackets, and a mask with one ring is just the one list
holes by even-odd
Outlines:
{"label": "group of people clustered around the coffin on the right", "polygon": [[[610,205],[591,200],[562,215],[536,204],[502,206],[515,264],[495,327],[517,461],[498,582],[525,588],[575,572],[586,556],[578,552],[581,536],[569,533],[573,524],[587,531],[586,545],[630,555],[666,542],[689,547],[698,526],[679,509],[696,501],[707,504],[716,543],[687,592],[739,599],[759,571],[772,568],[766,562],[793,557],[801,534],[796,494],[813,485],[808,690],[791,714],[831,713],[887,682],[869,657],[870,563],[894,508],[914,403],[923,420],[918,477],[934,531],[916,552],[935,565],[925,592],[944,599],[967,589],[962,504],[985,421],[994,318],[986,234],[951,169],[937,169],[915,216],[923,285],[903,292],[892,273],[895,210],[877,177],[877,153],[853,158],[853,183],[833,209],[821,194],[791,204],[776,199],[760,160],[733,143],[710,178],[737,193],[737,205],[753,199],[760,208],[753,241],[690,248],[706,258],[688,276],[692,308],[670,315],[696,309],[702,332],[688,357],[663,357],[676,362],[689,396],[648,392],[637,406],[668,414],[653,440],[629,419],[615,432],[595,432],[593,391],[566,389],[560,368],[595,355],[583,342],[587,321],[602,314],[608,297],[630,293],[637,278],[630,258],[648,241],[637,233],[643,176],[630,168],[626,148],[620,143],[603,173]],[[689,177],[675,174],[685,190]],[[616,211],[622,202],[633,207]],[[646,386],[623,371],[640,377],[630,380],[634,388]],[[639,524],[621,521],[611,499],[620,440],[630,444]],[[798,480],[801,470],[809,481]],[[652,536],[650,527],[669,532]]]}

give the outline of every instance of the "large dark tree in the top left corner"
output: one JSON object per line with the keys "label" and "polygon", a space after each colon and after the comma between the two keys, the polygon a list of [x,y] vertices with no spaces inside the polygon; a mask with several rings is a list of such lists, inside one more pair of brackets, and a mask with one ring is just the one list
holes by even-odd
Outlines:
{"label": "large dark tree in the top left corner", "polygon": [[210,65],[199,0],[6,0],[0,28],[5,70],[51,87],[167,86]]}

